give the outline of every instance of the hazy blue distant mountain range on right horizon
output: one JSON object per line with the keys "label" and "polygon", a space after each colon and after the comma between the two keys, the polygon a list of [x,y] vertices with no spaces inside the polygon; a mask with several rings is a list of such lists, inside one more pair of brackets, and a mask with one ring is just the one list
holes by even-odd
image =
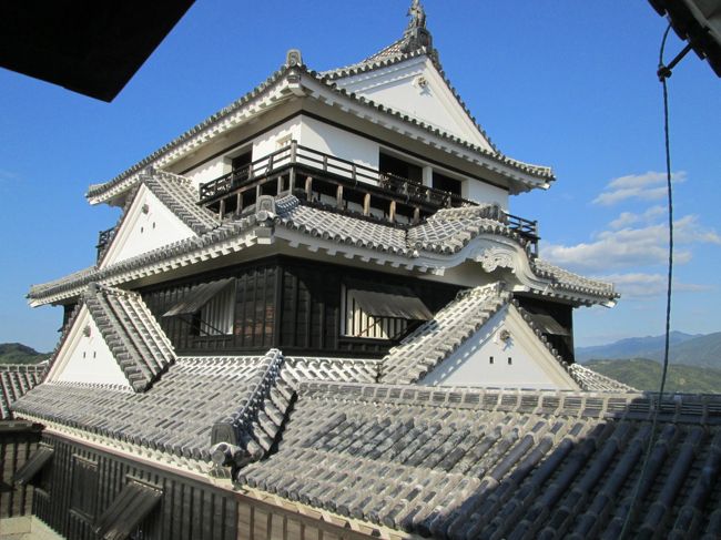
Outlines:
{"label": "hazy blue distant mountain range on right horizon", "polygon": [[[578,347],[576,360],[583,364],[592,359],[624,358],[648,358],[662,361],[663,343],[663,336],[648,336],[621,339],[609,345]],[[670,364],[721,369],[721,332],[705,335],[672,332],[670,344]]]}

